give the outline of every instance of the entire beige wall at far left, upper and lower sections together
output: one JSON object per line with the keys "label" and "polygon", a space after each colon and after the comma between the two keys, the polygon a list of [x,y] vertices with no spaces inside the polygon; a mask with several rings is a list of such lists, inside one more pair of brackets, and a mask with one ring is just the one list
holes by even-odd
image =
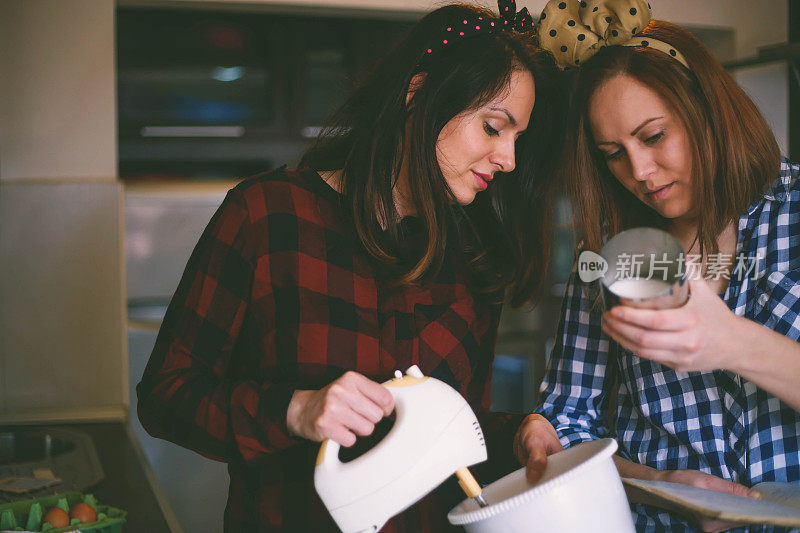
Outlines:
{"label": "entire beige wall at far left, upper and lower sections together", "polygon": [[114,2],[0,3],[0,422],[122,419]]}

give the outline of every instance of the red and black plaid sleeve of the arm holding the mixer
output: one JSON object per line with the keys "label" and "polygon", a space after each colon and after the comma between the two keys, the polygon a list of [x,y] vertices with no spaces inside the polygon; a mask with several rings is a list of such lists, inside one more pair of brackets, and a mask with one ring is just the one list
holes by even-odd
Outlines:
{"label": "red and black plaid sleeve of the arm holding the mixer", "polygon": [[299,442],[286,427],[292,385],[227,371],[247,321],[256,249],[233,189],[189,258],[136,387],[148,433],[220,461],[255,462]]}

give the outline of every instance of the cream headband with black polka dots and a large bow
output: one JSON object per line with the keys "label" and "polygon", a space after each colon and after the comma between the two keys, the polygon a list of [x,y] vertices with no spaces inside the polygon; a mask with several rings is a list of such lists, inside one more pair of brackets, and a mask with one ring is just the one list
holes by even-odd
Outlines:
{"label": "cream headband with black polka dots and a large bow", "polygon": [[604,46],[654,48],[689,68],[673,46],[636,37],[650,23],[647,0],[550,0],[539,19],[539,42],[561,68],[586,62]]}

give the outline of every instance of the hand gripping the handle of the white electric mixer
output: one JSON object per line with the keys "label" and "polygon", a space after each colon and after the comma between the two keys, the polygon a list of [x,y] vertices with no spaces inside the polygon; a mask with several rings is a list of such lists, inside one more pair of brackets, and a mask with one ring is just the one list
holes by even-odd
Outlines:
{"label": "hand gripping the handle of the white electric mixer", "polygon": [[366,437],[383,417],[394,411],[389,390],[357,372],[347,372],[320,390],[297,390],[289,402],[286,426],[294,435],[342,446]]}

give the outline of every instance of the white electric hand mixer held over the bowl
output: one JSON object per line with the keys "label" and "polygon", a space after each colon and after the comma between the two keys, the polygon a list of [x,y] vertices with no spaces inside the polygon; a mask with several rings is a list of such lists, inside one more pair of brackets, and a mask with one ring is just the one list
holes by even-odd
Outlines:
{"label": "white electric hand mixer held over the bowl", "polygon": [[486,505],[467,470],[486,460],[480,424],[452,387],[412,366],[383,386],[394,396],[396,420],[372,449],[350,462],[339,444],[322,443],[314,486],[344,533],[378,531],[394,515],[458,476],[468,496]]}

